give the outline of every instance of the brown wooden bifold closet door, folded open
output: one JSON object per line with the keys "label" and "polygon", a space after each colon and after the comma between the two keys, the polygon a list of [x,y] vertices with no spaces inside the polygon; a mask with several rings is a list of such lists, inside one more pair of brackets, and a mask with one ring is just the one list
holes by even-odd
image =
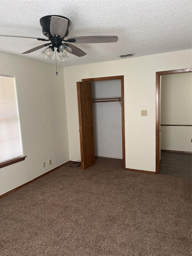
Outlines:
{"label": "brown wooden bifold closet door, folded open", "polygon": [[81,169],[95,164],[91,83],[77,82]]}

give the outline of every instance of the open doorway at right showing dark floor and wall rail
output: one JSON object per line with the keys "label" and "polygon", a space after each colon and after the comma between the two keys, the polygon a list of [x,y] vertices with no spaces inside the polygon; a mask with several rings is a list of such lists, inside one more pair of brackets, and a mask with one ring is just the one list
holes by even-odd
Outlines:
{"label": "open doorway at right showing dark floor and wall rail", "polygon": [[191,72],[156,72],[156,174],[191,177]]}

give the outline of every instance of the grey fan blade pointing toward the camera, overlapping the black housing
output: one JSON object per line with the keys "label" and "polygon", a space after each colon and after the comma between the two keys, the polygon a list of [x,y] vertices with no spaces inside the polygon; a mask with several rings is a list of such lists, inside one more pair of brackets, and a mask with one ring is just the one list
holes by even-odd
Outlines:
{"label": "grey fan blade pointing toward the camera, overlapping the black housing", "polygon": [[52,16],[51,22],[50,22],[51,35],[53,37],[54,35],[59,35],[60,38],[63,38],[67,31],[67,25],[68,25],[68,20],[61,17]]}

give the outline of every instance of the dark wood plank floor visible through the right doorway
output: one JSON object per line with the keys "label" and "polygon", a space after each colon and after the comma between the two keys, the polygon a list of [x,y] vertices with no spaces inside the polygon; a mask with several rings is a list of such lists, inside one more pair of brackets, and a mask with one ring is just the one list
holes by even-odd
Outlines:
{"label": "dark wood plank floor visible through the right doorway", "polygon": [[160,174],[191,178],[192,154],[161,152]]}

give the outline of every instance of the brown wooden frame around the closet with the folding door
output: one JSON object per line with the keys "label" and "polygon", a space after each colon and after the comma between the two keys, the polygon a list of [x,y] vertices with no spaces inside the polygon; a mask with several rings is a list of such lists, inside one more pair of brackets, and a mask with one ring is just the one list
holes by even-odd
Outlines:
{"label": "brown wooden frame around the closet with the folding door", "polygon": [[125,170],[125,108],[124,108],[124,76],[114,77],[95,77],[82,79],[82,82],[97,82],[107,80],[121,80],[121,99],[122,99],[122,151],[123,151],[123,169]]}

